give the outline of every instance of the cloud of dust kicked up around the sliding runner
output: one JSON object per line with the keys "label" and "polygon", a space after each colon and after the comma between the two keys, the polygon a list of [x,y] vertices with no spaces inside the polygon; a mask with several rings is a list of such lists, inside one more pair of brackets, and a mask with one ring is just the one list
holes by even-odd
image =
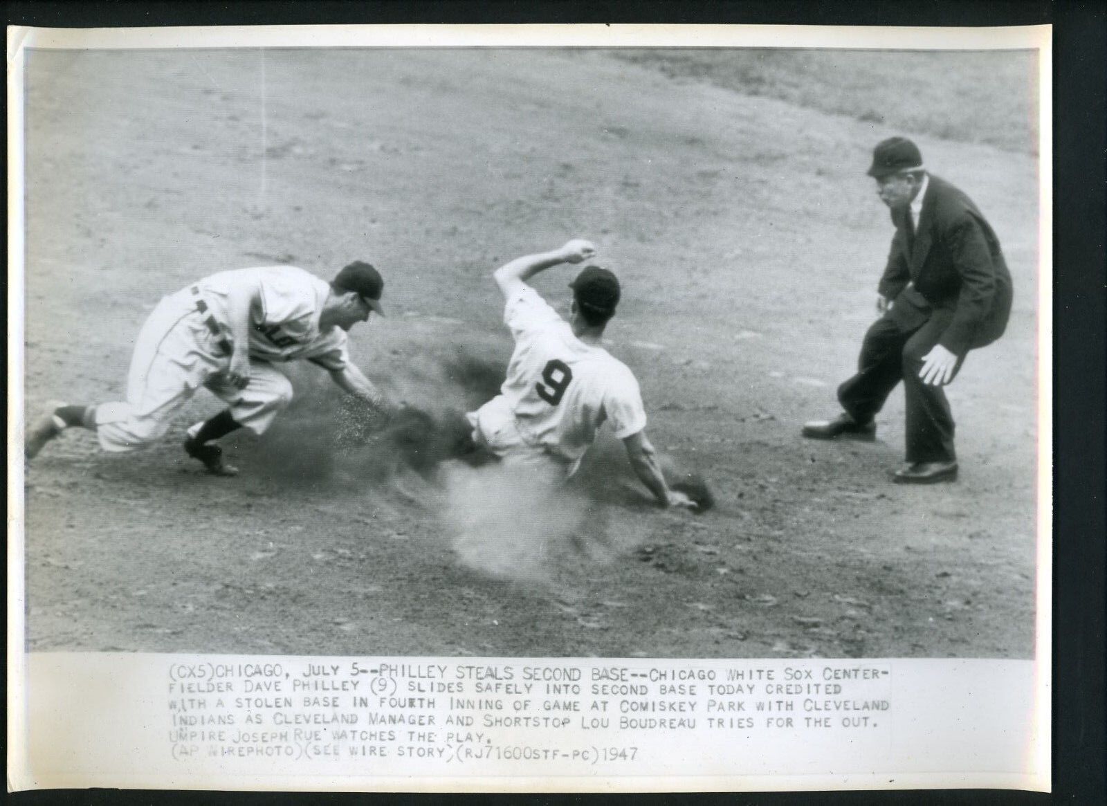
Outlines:
{"label": "cloud of dust kicked up around the sliding runner", "polygon": [[535,585],[566,564],[602,561],[610,547],[601,504],[641,499],[628,487],[621,445],[598,445],[570,483],[554,466],[474,456],[459,406],[497,393],[498,361],[458,350],[424,358],[402,378],[376,375],[408,400],[387,423],[325,374],[296,373],[292,404],[244,459],[284,487],[405,498],[437,519],[435,533],[461,564],[494,578]]}

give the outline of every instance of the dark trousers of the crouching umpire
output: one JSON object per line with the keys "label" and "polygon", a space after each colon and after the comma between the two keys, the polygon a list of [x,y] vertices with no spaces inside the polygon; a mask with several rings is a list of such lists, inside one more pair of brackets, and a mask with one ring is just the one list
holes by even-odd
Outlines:
{"label": "dark trousers of the crouching umpire", "polygon": [[[953,413],[945,392],[919,378],[922,356],[938,343],[952,316],[952,311],[934,311],[921,326],[908,330],[889,316],[881,317],[865,334],[857,374],[838,386],[842,409],[857,422],[868,423],[903,381],[908,462],[956,459]],[[958,359],[954,376],[963,362],[964,356]]]}

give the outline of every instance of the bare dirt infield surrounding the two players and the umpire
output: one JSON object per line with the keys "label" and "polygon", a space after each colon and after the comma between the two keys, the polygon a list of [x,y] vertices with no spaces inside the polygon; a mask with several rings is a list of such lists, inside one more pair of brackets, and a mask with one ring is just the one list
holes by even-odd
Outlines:
{"label": "bare dirt infield surrounding the two players and the umpire", "polygon": [[[863,170],[894,130],[673,72],[583,51],[32,54],[29,412],[118,399],[162,293],[355,258],[384,272],[390,317],[355,329],[354,358],[397,397],[463,406],[478,390],[457,366],[510,352],[489,272],[583,236],[623,278],[610,349],[650,434],[718,506],[653,510],[611,445],[552,502],[396,477],[297,370],[278,426],[227,441],[237,479],[180,451],[206,393],[149,452],[82,432],[46,448],[27,474],[29,647],[1031,657],[1034,158],[917,135],[999,231],[1016,303],[950,391],[962,480],[901,488],[900,393],[877,444],[798,435],[835,411],[872,316],[891,228]],[[560,302],[568,279],[538,286]]]}

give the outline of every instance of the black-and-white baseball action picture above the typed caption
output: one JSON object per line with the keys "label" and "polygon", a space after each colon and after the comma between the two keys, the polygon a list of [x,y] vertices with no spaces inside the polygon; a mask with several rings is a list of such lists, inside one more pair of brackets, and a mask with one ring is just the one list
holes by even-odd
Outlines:
{"label": "black-and-white baseball action picture above the typed caption", "polygon": [[27,652],[1035,660],[1028,41],[32,44]]}

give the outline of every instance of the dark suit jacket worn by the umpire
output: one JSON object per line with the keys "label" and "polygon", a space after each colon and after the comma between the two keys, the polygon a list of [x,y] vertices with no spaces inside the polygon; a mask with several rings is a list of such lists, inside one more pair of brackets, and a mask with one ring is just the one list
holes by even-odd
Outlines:
{"label": "dark suit jacket worn by the umpire", "polygon": [[904,218],[892,211],[896,235],[878,287],[894,301],[889,317],[915,330],[938,311],[952,312],[938,343],[962,358],[999,339],[1011,316],[1011,273],[976,205],[931,175],[910,249]]}

